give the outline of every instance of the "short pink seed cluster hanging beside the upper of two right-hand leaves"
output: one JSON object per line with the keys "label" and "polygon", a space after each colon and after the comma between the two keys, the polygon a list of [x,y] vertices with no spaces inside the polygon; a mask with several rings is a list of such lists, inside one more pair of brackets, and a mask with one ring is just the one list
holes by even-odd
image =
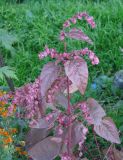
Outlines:
{"label": "short pink seed cluster hanging beside the upper of two right-hand leaves", "polygon": [[80,104],[80,109],[82,110],[84,119],[89,123],[92,124],[92,119],[90,117],[89,109],[86,105],[86,102]]}

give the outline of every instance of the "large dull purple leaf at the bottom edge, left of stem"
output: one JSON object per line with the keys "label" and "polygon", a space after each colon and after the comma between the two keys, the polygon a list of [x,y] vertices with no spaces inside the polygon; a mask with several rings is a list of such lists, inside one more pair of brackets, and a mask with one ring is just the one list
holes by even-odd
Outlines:
{"label": "large dull purple leaf at the bottom edge, left of stem", "polygon": [[33,160],[53,160],[60,152],[61,138],[47,137],[33,146],[28,154]]}

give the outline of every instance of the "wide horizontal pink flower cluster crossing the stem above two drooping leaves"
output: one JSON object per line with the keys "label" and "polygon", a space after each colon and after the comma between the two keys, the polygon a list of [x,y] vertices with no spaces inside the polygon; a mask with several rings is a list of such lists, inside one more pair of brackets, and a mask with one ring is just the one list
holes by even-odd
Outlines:
{"label": "wide horizontal pink flower cluster crossing the stem above two drooping leaves", "polygon": [[58,53],[55,49],[45,48],[43,52],[39,53],[39,59],[43,59],[47,56],[50,56],[51,58],[55,58],[58,62],[65,62],[66,60],[70,60],[72,58],[77,59],[80,56],[84,55],[88,55],[93,65],[97,65],[99,63],[98,57],[95,55],[93,51],[89,50],[88,48],[75,50],[71,53]]}

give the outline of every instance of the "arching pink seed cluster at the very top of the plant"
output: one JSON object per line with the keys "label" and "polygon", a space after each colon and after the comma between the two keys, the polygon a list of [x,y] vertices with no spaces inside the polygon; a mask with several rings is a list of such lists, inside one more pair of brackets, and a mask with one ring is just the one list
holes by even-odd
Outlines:
{"label": "arching pink seed cluster at the very top of the plant", "polygon": [[95,25],[95,22],[94,22],[94,18],[92,16],[89,16],[86,12],[80,12],[80,13],[74,15],[72,18],[65,21],[65,23],[63,24],[63,28],[70,27],[71,24],[76,24],[77,20],[82,20],[82,18],[85,18],[87,23],[92,28],[95,28],[96,25]]}

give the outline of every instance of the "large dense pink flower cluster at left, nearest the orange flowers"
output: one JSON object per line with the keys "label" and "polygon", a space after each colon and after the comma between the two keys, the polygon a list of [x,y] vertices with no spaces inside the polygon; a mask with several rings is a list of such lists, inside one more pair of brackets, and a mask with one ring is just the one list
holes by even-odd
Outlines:
{"label": "large dense pink flower cluster at left, nearest the orange flowers", "polygon": [[16,90],[12,104],[22,107],[25,111],[18,116],[29,120],[40,118],[39,90],[39,79]]}

